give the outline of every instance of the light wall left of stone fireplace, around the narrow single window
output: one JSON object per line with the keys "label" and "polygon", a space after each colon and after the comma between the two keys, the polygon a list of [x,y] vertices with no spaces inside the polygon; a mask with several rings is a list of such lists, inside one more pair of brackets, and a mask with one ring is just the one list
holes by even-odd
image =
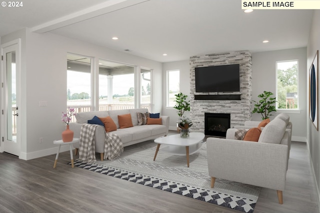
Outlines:
{"label": "light wall left of stone fireplace, around the narrow single window", "polygon": [[[183,94],[190,96],[190,65],[189,60],[184,61],[174,61],[163,63],[162,66],[162,114],[170,116],[170,130],[176,130],[176,121],[178,120],[177,110],[174,108],[166,107],[166,71],[167,70],[180,70],[180,92]],[[190,100],[190,97],[187,98]],[[183,115],[189,116],[189,112],[185,112]]]}

